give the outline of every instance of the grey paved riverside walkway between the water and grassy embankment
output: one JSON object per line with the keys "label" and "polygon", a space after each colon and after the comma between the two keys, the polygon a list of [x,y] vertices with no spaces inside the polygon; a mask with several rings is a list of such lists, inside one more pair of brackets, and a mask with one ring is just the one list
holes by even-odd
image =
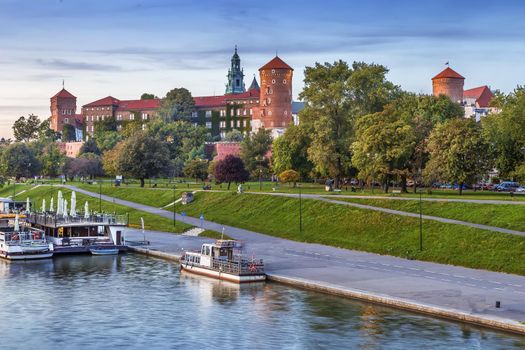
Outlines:
{"label": "grey paved riverside walkway between the water and grassy embankment", "polygon": [[[106,195],[102,199],[173,217],[171,211]],[[224,227],[227,235],[246,243],[249,255],[264,259],[269,278],[279,282],[525,334],[524,276],[289,241],[188,216],[177,215],[177,220],[217,232]],[[126,237],[143,239],[138,230]],[[147,232],[146,239],[150,253],[174,258],[206,240],[163,232]]]}

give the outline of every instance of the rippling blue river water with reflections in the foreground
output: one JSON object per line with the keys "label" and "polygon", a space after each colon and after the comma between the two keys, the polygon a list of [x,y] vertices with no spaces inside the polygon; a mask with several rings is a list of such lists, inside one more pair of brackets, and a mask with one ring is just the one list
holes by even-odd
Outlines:
{"label": "rippling blue river water with reflections in the foreground", "polygon": [[523,349],[525,338],[135,254],[0,261],[1,349]]}

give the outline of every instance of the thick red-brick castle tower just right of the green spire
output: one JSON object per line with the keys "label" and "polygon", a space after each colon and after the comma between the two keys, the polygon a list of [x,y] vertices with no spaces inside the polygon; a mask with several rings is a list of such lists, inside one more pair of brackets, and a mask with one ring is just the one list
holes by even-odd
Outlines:
{"label": "thick red-brick castle tower just right of the green spire", "polygon": [[261,94],[259,108],[253,115],[254,129],[272,129],[278,136],[292,124],[293,68],[279,56],[259,68]]}

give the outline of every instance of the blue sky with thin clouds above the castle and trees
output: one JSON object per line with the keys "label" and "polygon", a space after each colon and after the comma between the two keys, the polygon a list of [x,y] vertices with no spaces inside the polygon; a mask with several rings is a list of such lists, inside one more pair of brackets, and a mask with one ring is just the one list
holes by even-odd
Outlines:
{"label": "blue sky with thin clouds above the castle and trees", "polygon": [[0,0],[0,137],[33,113],[50,116],[62,88],[84,104],[111,95],[224,93],[234,46],[248,86],[276,52],[303,71],[316,62],[374,62],[404,90],[431,93],[445,62],[465,88],[525,83],[520,0]]}

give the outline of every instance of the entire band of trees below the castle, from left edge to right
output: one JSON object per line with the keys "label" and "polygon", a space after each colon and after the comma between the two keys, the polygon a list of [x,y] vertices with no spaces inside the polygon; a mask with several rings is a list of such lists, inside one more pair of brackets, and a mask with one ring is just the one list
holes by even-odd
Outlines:
{"label": "entire band of trees below the castle, from left edge to right", "polygon": [[[240,161],[252,178],[285,172],[289,179],[333,178],[337,187],[358,178],[380,181],[385,191],[393,181],[406,190],[409,179],[414,185],[471,183],[493,168],[503,178],[525,179],[524,88],[498,93],[498,113],[476,123],[448,97],[404,92],[387,73],[384,66],[363,62],[307,67],[299,126],[289,127],[273,144],[264,129],[247,137],[232,131],[225,140],[241,142]],[[211,139],[204,127],[189,122],[193,103],[188,90],[173,89],[158,117],[146,125],[139,117],[120,128],[114,119],[99,121],[73,160],[61,154],[55,142],[60,135],[48,121],[22,117],[13,126],[18,142],[0,142],[0,172],[17,178],[124,175],[141,184],[146,178],[182,175],[230,182],[224,167],[218,171],[218,164],[206,159],[204,144]]]}

